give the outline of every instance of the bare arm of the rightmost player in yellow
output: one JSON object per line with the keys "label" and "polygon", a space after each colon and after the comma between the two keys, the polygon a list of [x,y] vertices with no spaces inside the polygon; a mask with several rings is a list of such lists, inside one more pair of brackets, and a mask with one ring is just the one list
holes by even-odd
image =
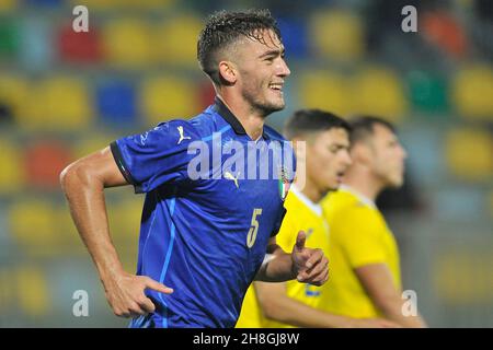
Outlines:
{"label": "bare arm of the rightmost player in yellow", "polygon": [[374,304],[388,319],[403,327],[426,327],[425,322],[419,314],[416,316],[403,315],[402,306],[405,301],[394,287],[392,275],[387,264],[364,265],[355,268],[355,272]]}

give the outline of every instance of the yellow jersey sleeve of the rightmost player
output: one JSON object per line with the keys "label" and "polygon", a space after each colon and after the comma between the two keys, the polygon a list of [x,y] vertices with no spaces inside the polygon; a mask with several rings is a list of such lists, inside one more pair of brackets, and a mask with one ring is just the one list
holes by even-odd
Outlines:
{"label": "yellow jersey sleeve of the rightmost player", "polygon": [[335,240],[352,268],[387,261],[381,240],[386,228],[371,209],[355,208],[345,211],[337,218],[337,226],[332,229],[332,232],[337,232]]}

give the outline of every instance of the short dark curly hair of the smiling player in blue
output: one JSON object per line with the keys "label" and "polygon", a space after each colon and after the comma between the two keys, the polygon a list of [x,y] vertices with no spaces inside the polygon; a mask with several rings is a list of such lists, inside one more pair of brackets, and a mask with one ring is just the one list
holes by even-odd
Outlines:
{"label": "short dark curly hair of the smiling player in blue", "polygon": [[202,70],[220,84],[217,54],[242,37],[265,44],[260,31],[272,30],[280,40],[280,31],[268,10],[219,11],[211,14],[198,35],[197,59]]}

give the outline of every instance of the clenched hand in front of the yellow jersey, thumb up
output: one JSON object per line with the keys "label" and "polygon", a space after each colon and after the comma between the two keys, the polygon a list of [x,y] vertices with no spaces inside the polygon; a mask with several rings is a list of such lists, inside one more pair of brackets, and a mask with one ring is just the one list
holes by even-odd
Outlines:
{"label": "clenched hand in front of the yellow jersey, thumb up", "polygon": [[322,249],[307,248],[306,240],[306,233],[298,232],[291,253],[293,270],[299,282],[322,285],[329,279],[329,259]]}

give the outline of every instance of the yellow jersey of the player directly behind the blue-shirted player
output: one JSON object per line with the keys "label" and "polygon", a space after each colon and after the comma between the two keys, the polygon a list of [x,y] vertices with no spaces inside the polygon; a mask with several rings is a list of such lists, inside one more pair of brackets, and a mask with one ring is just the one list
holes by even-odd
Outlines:
{"label": "yellow jersey of the player directly behind the blue-shirted player", "polygon": [[[329,225],[323,218],[322,207],[313,203],[295,186],[291,186],[285,201],[287,210],[283,224],[276,235],[277,244],[286,253],[293,252],[299,231],[305,231],[307,241],[305,246],[321,248],[328,256]],[[325,283],[326,284],[326,283]],[[324,285],[325,285],[324,284]],[[314,287],[300,283],[297,280],[286,282],[286,294],[311,307],[320,308],[325,287]],[[237,328],[288,328],[286,324],[273,322],[263,317],[262,310],[256,300],[253,283],[246,291],[241,308]]]}

